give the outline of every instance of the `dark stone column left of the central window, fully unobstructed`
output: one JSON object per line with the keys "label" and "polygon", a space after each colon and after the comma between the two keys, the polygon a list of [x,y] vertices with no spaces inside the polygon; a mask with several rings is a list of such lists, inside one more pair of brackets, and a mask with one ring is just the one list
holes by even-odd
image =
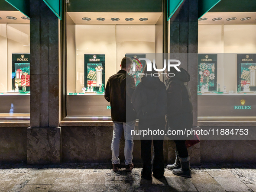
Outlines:
{"label": "dark stone column left of the central window, fully unobstructed", "polygon": [[27,163],[60,163],[59,19],[43,2],[30,0],[30,128]]}

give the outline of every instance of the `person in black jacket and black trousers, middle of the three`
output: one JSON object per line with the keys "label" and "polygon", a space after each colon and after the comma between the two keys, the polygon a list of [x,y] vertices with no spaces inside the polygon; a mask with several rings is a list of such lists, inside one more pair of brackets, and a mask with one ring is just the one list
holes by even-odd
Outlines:
{"label": "person in black jacket and black trousers, middle of the three", "polygon": [[[160,81],[159,77],[153,76],[153,74],[157,74],[154,70],[146,71],[145,67],[143,74],[145,75],[141,78],[141,82],[132,96],[133,107],[139,119],[139,130],[151,130],[156,133],[159,129],[164,132],[167,105],[165,84]],[[164,135],[159,133],[154,135],[154,132],[146,136],[140,134],[141,158],[143,160],[141,176],[144,179],[152,179],[152,171],[153,176],[157,179],[164,175],[163,137]],[[154,149],[151,160],[152,138]]]}

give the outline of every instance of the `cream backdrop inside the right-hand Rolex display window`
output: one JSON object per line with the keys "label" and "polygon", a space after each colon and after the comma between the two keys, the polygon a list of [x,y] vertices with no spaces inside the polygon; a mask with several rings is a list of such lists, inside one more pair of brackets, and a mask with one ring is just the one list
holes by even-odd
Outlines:
{"label": "cream backdrop inside the right-hand Rolex display window", "polygon": [[[237,90],[236,54],[256,53],[256,25],[198,25],[198,53],[217,53],[217,83]],[[228,53],[228,54],[227,54]]]}

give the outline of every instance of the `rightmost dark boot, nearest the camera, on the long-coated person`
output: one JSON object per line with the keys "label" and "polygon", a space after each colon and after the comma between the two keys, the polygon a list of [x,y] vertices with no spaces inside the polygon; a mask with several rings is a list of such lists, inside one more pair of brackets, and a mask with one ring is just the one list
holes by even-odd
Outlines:
{"label": "rightmost dark boot, nearest the camera, on the long-coated person", "polygon": [[177,176],[191,178],[191,170],[189,166],[189,156],[188,157],[179,157],[181,168],[172,170],[172,173]]}

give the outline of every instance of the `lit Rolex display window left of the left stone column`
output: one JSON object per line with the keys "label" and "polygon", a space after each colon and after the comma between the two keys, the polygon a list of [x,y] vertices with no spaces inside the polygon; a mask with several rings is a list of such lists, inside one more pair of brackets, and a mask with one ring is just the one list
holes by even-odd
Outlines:
{"label": "lit Rolex display window left of the left stone column", "polygon": [[0,11],[0,116],[29,117],[29,18],[19,11]]}

